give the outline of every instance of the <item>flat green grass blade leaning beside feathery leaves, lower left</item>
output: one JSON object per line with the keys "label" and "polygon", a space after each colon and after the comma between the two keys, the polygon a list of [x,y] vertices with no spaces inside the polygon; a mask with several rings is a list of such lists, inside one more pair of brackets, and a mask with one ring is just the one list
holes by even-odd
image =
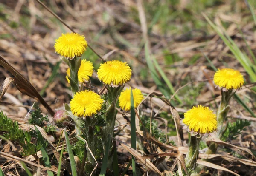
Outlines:
{"label": "flat green grass blade leaning beside feathery leaves, lower left", "polygon": [[[38,135],[38,141],[42,144],[42,147],[40,148],[42,156],[43,156],[43,160],[44,160],[44,164],[46,167],[52,168],[48,154],[47,154],[47,150],[46,150],[46,146],[45,146],[45,142],[43,139],[42,134],[40,133],[40,131],[38,130],[38,128],[35,126],[35,131]],[[47,170],[48,176],[53,176],[52,171]]]}

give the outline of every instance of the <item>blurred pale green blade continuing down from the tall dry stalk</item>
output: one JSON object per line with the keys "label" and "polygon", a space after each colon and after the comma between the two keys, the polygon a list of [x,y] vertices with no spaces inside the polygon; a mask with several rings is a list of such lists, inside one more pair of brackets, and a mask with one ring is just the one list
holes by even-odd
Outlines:
{"label": "blurred pale green blade continuing down from the tall dry stalk", "polygon": [[145,59],[151,74],[151,77],[153,78],[154,82],[157,85],[157,88],[162,92],[162,94],[166,98],[171,98],[169,91],[166,90],[165,86],[163,85],[163,82],[161,81],[160,77],[157,74],[156,69],[154,68],[154,64],[151,60],[149,51],[148,51],[148,43],[145,43]]}

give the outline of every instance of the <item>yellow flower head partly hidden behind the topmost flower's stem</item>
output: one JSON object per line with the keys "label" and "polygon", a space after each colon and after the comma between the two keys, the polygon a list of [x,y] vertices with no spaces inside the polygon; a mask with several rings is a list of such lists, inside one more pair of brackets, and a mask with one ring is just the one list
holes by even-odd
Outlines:
{"label": "yellow flower head partly hidden behind the topmost flower's stem", "polygon": [[[70,76],[70,68],[67,69],[67,75]],[[81,60],[81,66],[78,70],[78,81],[84,82],[88,81],[89,77],[93,75],[93,63],[87,61],[86,59]],[[70,83],[70,80],[66,76],[67,82]]]}

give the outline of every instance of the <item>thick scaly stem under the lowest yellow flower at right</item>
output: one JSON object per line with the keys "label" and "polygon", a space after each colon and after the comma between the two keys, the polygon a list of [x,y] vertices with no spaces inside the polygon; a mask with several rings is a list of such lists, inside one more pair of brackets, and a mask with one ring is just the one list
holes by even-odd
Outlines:
{"label": "thick scaly stem under the lowest yellow flower at right", "polygon": [[201,137],[196,137],[196,136],[191,136],[190,142],[189,142],[189,151],[186,155],[185,158],[185,164],[187,170],[194,170],[196,167],[196,162],[198,160],[198,155],[199,155],[199,144],[201,141]]}

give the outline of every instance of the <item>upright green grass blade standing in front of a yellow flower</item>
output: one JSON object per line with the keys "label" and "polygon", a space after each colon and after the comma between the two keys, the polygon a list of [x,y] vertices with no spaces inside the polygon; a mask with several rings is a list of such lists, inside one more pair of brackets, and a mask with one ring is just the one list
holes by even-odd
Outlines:
{"label": "upright green grass blade standing in front of a yellow flower", "polygon": [[[135,109],[134,109],[134,97],[131,89],[131,147],[136,150],[136,124],[135,124]],[[134,156],[132,156],[132,173],[136,176],[136,162]]]}

